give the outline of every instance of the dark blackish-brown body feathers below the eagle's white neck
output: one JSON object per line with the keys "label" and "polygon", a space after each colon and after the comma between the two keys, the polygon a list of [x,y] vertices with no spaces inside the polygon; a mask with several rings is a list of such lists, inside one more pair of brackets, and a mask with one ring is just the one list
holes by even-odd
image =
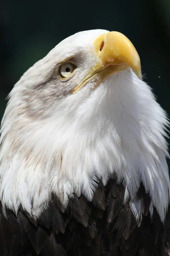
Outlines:
{"label": "dark blackish-brown body feathers below the eagle's white neck", "polygon": [[142,184],[137,195],[136,201],[143,200],[140,226],[131,199],[124,203],[125,186],[116,178],[105,186],[99,182],[92,201],[74,195],[66,208],[51,195],[36,225],[22,209],[17,216],[6,209],[6,219],[1,208],[0,250],[12,256],[161,256],[170,236],[169,213],[163,224],[155,207],[150,215]]}

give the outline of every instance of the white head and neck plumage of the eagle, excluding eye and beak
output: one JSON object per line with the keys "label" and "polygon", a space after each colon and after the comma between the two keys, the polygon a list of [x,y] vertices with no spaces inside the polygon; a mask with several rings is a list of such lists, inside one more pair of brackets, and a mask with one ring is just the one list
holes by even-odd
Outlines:
{"label": "white head and neck plumage of the eagle, excluding eye and beak", "polygon": [[[150,87],[125,71],[95,90],[97,78],[71,93],[94,66],[94,40],[105,32],[65,39],[11,91],[1,127],[0,200],[14,212],[21,205],[38,217],[52,192],[65,205],[73,192],[91,200],[97,180],[106,184],[116,174],[117,182],[126,184],[125,201],[130,197],[134,203],[142,182],[164,220],[170,188],[168,121]],[[77,70],[63,82],[57,68],[69,58]]]}

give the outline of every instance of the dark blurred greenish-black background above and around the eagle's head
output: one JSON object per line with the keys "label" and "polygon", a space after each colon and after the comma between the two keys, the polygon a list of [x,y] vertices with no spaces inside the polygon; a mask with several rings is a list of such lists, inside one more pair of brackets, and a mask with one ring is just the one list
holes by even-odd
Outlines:
{"label": "dark blurred greenish-black background above and around the eagle's head", "polygon": [[6,0],[0,3],[0,120],[20,76],[62,39],[88,29],[125,34],[145,81],[170,114],[170,0]]}

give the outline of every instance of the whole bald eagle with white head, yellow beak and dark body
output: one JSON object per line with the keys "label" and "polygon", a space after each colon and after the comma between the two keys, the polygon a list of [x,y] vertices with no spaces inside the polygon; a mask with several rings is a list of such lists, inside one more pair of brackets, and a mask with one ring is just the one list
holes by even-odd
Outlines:
{"label": "whole bald eagle with white head, yellow beak and dark body", "polygon": [[60,42],[3,116],[0,254],[169,255],[168,127],[125,35]]}

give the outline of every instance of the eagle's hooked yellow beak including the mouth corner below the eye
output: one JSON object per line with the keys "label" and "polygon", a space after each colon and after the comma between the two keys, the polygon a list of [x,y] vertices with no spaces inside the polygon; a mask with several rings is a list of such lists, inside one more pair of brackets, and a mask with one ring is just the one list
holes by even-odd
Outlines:
{"label": "eagle's hooked yellow beak including the mouth corner below the eye", "polygon": [[94,42],[99,62],[89,75],[73,91],[76,93],[95,76],[100,76],[100,81],[111,76],[113,73],[131,69],[139,79],[142,79],[141,63],[139,55],[130,42],[122,33],[113,31],[105,33]]}

